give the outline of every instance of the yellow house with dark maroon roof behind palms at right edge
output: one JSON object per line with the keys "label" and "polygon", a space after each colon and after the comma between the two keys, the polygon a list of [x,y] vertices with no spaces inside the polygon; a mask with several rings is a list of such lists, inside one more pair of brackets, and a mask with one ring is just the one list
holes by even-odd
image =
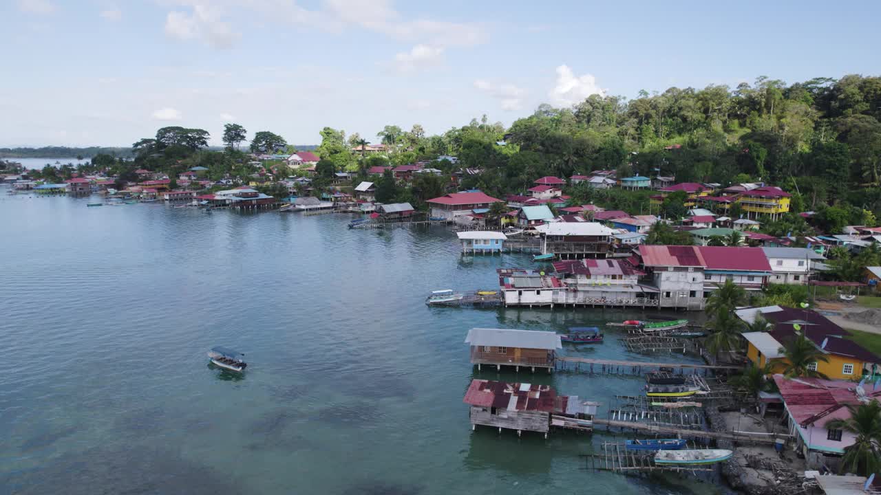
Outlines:
{"label": "yellow house with dark maroon roof behind palms at right edge", "polygon": [[[773,373],[781,373],[788,364],[783,344],[803,333],[820,351],[827,362],[812,365],[819,373],[833,380],[859,380],[863,376],[881,374],[881,358],[848,338],[848,331],[811,310],[792,307],[752,307],[737,310],[737,316],[751,322],[763,318],[771,324],[766,332],[744,333],[746,357],[757,366],[771,363]],[[796,329],[796,325],[799,329]]]}

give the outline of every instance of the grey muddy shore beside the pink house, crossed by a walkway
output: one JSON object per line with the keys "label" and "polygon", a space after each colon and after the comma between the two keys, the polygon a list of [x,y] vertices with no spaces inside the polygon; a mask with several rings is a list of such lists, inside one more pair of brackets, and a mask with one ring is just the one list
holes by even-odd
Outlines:
{"label": "grey muddy shore beside the pink house, crossed by a walkway", "polygon": [[[729,428],[741,432],[771,432],[772,429],[774,429],[775,432],[786,431],[785,426],[777,425],[777,420],[779,419],[777,417],[767,417],[766,421],[758,422],[755,420],[755,418],[759,418],[758,414],[752,413],[751,411],[749,411],[749,414],[750,416],[746,416],[739,412],[725,412],[722,413],[722,416],[725,417],[725,423]],[[739,444],[735,449],[734,460],[743,467],[744,475],[746,477],[744,483],[746,484],[756,486],[774,485],[774,472],[767,469],[750,468],[746,462],[747,455],[758,455],[773,460],[774,462],[780,462],[793,469],[796,473],[803,473],[805,469],[804,461],[796,457],[796,454],[792,451],[792,447],[788,447],[784,452],[784,459],[781,459],[773,446]]]}

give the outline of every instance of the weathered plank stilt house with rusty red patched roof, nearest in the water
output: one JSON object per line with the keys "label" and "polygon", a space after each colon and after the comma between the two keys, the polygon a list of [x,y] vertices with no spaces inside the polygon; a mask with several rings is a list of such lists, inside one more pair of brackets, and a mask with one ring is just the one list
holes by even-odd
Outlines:
{"label": "weathered plank stilt house with rusty red patched roof, nearest in the water", "polygon": [[478,425],[522,432],[544,433],[551,427],[589,432],[593,429],[596,403],[577,395],[557,395],[550,385],[471,380],[463,403],[470,405],[471,429]]}

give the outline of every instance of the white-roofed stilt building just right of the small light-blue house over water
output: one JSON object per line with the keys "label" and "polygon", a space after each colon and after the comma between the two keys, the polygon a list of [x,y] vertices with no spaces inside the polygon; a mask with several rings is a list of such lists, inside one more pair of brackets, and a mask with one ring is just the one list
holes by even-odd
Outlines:
{"label": "white-roofed stilt building just right of the small light-blue house over water", "polygon": [[553,222],[537,225],[543,255],[560,259],[605,258],[611,251],[611,228],[597,222]]}

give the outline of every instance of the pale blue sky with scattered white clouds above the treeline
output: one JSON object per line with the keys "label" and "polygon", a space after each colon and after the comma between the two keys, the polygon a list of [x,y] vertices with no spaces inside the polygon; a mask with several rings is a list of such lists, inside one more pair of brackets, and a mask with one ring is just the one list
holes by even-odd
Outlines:
{"label": "pale blue sky with scattered white clouds above the treeline", "polygon": [[0,146],[127,146],[226,122],[509,125],[590,94],[881,75],[881,2],[0,0]]}

